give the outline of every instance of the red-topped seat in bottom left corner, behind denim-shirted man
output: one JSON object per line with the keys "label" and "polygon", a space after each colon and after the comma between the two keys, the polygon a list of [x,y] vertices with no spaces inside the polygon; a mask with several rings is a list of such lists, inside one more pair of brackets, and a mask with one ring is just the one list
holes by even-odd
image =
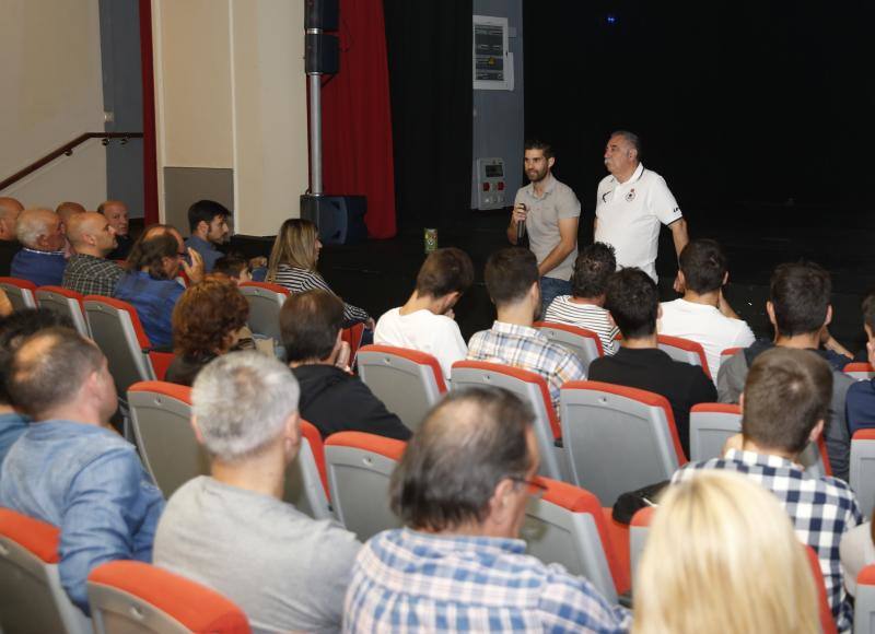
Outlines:
{"label": "red-topped seat in bottom left corner, behind denim-shirted man", "polygon": [[58,575],[60,530],[0,508],[0,629],[3,634],[86,634]]}

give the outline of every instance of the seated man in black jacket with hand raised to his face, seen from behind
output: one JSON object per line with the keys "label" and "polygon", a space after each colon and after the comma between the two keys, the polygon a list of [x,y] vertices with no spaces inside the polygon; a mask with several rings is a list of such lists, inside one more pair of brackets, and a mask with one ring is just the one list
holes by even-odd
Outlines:
{"label": "seated man in black jacket with hand raised to his face, seen from behind", "polygon": [[285,359],[301,386],[301,416],[325,436],[368,432],[406,441],[410,430],[366,385],[349,373],[349,345],[340,339],[343,303],[319,289],[291,295],[280,310]]}

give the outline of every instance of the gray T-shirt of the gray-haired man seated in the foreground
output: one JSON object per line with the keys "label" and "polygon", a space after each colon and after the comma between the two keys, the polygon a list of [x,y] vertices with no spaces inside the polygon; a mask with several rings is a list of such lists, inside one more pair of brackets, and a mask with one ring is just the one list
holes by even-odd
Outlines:
{"label": "gray T-shirt of the gray-haired man seated in the foreground", "polygon": [[167,502],[153,561],[223,594],[255,632],[337,632],[360,548],[332,521],[201,476]]}

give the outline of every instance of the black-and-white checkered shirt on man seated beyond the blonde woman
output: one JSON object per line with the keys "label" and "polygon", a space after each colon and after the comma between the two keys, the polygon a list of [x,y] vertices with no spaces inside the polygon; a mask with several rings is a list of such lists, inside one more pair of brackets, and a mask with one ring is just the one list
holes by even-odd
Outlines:
{"label": "black-and-white checkered shirt on man seated beyond the blonde woman", "polygon": [[724,458],[690,462],[672,482],[681,482],[702,469],[726,469],[745,473],[778,496],[800,540],[820,559],[827,598],[840,632],[851,630],[853,610],[842,584],[839,543],[842,536],[863,521],[851,488],[838,478],[812,478],[802,467],[781,458],[730,449]]}

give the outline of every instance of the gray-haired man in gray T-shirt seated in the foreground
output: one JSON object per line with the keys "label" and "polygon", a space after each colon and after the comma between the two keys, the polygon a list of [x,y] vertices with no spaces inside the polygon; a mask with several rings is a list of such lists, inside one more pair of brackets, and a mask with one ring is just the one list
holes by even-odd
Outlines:
{"label": "gray-haired man in gray T-shirt seated in the foreground", "polygon": [[282,502],[301,446],[298,381],[255,351],[207,365],[191,391],[191,425],[211,476],[173,494],[155,564],[215,588],[257,631],[338,630],[361,544],[332,521]]}

